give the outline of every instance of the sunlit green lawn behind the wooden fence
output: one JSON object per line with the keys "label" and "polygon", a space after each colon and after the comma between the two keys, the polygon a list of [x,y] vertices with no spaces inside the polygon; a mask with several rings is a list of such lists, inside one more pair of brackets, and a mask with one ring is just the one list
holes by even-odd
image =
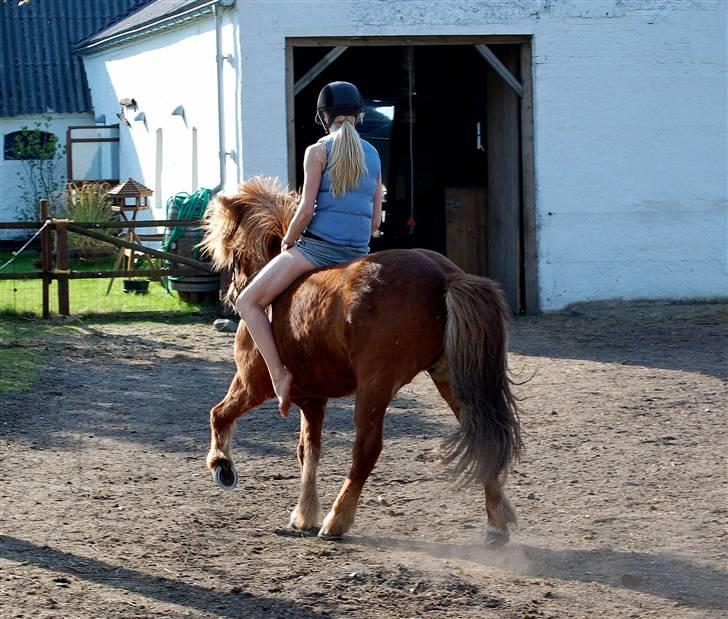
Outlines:
{"label": "sunlit green lawn behind the wooden fence", "polygon": [[[0,265],[11,257],[0,252]],[[2,273],[38,271],[33,261],[39,260],[37,252],[25,251]],[[74,271],[110,271],[113,259],[102,263],[87,264],[71,261]],[[167,292],[158,281],[149,283],[148,294],[124,293],[121,279],[114,280],[107,295],[108,279],[75,279],[69,282],[71,314],[118,314],[127,312],[197,312],[201,306],[182,301],[175,292]],[[58,313],[58,288],[54,281],[50,287],[51,313]],[[40,280],[0,280],[0,314],[37,315],[42,313],[42,284]]]}

